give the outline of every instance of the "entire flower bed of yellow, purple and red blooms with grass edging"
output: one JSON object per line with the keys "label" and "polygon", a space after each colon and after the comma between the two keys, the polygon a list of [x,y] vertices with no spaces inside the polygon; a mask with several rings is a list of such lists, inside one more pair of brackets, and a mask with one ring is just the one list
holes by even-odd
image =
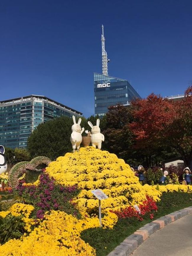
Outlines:
{"label": "entire flower bed of yellow, purple and red blooms with grass edging", "polygon": [[[9,177],[19,202],[0,216],[9,225],[9,216],[21,218],[24,228],[1,243],[2,255],[104,256],[151,219],[191,205],[192,186],[141,186],[122,159],[92,147],[57,158],[32,184],[15,180],[22,166],[29,163],[14,166]],[[93,189],[108,196],[102,228]]]}

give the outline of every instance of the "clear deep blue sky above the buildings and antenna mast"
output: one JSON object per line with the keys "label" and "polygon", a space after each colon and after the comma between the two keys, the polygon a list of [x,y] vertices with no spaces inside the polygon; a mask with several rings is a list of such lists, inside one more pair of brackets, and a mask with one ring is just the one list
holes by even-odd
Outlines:
{"label": "clear deep blue sky above the buildings and antenna mast", "polygon": [[45,95],[94,114],[93,72],[108,73],[141,97],[181,94],[192,81],[192,1],[1,0],[0,101]]}

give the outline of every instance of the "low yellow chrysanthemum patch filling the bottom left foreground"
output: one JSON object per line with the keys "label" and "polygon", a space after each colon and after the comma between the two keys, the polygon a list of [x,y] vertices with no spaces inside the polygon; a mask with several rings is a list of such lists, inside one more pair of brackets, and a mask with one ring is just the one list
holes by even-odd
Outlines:
{"label": "low yellow chrysanthemum patch filling the bottom left foreground", "polygon": [[51,211],[29,236],[11,239],[0,246],[0,255],[94,256],[95,249],[80,238],[89,220],[79,221],[64,212]]}

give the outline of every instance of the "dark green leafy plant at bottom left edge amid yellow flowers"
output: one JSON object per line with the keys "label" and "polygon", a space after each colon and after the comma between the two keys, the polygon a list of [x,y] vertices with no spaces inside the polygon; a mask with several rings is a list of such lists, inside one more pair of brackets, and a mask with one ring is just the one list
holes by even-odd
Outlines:
{"label": "dark green leafy plant at bottom left edge amid yellow flowers", "polygon": [[9,239],[19,238],[24,234],[25,223],[21,217],[8,214],[5,218],[0,217],[0,244],[4,244]]}

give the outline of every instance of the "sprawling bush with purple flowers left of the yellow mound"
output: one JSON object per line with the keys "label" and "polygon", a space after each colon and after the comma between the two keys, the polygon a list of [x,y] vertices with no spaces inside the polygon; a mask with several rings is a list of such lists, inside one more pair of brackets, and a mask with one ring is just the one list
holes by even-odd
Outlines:
{"label": "sprawling bush with purple flowers left of the yellow mound", "polygon": [[80,191],[76,186],[64,187],[44,172],[39,179],[40,184],[38,186],[22,186],[22,184],[19,184],[15,191],[26,203],[35,207],[32,217],[41,219],[45,212],[49,210],[61,210],[77,218],[81,217],[72,202],[72,199]]}

